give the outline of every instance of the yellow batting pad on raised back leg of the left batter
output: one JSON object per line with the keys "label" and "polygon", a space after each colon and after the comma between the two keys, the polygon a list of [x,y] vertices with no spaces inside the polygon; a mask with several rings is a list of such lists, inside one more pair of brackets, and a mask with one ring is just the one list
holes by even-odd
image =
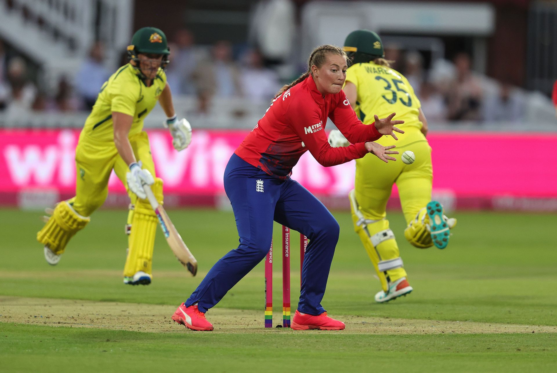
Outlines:
{"label": "yellow batting pad on raised back leg of the left batter", "polygon": [[90,222],[89,217],[77,214],[67,201],[56,205],[45,226],[37,233],[37,241],[55,254],[64,252],[70,238]]}

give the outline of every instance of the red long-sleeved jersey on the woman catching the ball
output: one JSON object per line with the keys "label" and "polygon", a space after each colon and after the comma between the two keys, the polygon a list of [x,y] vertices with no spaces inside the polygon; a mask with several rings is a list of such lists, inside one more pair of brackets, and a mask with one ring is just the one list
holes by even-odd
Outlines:
{"label": "red long-sleeved jersey on the woman catching the ball", "polygon": [[[354,145],[331,148],[324,131],[328,117]],[[334,166],[362,158],[367,154],[364,143],[381,136],[374,123],[360,122],[344,91],[323,97],[310,75],[273,100],[234,153],[267,174],[286,179],[306,150],[321,165]]]}

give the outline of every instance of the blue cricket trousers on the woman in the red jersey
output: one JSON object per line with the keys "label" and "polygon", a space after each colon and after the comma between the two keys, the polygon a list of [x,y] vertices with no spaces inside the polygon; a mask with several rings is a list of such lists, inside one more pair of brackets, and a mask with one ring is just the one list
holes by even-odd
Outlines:
{"label": "blue cricket trousers on the woman in the red jersey", "polygon": [[309,315],[324,312],[321,300],[336,243],[339,224],[329,210],[292,179],[279,180],[233,154],[224,170],[224,190],[232,203],[240,245],[214,264],[185,302],[198,302],[207,312],[265,258],[272,241],[273,220],[309,238],[298,310]]}

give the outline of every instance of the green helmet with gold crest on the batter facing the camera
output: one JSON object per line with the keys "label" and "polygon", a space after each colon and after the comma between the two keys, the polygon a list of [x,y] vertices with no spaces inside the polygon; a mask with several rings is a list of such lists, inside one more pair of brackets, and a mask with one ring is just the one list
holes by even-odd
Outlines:
{"label": "green helmet with gold crest on the batter facing the camera", "polygon": [[131,45],[128,46],[128,57],[130,60],[138,62],[138,53],[163,55],[160,67],[167,66],[170,48],[168,47],[167,36],[156,27],[143,27],[134,33],[131,38]]}

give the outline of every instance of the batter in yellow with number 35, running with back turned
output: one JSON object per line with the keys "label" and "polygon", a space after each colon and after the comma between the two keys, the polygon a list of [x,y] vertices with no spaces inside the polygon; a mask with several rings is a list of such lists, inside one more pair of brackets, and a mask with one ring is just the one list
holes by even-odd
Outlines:
{"label": "batter in yellow with number 35, running with back turned", "polygon": [[[396,145],[398,161],[384,163],[373,155],[356,160],[355,189],[349,194],[354,228],[377,271],[382,290],[375,295],[377,302],[387,302],[407,295],[413,288],[408,282],[394,232],[387,220],[387,201],[393,184],[397,184],[400,204],[408,227],[405,238],[419,248],[435,244],[447,246],[449,225],[440,203],[431,200],[433,171],[431,148],[426,140],[427,121],[421,105],[408,80],[389,67],[384,60],[379,36],[368,30],[358,30],[346,38],[344,50],[353,58],[346,70],[344,92],[364,124],[372,124],[374,116],[396,112],[395,119],[404,120],[398,127],[404,134],[383,136],[376,142]],[[333,146],[342,146],[336,134],[330,135]],[[336,141],[335,141],[336,140]],[[410,150],[416,160],[404,164],[400,156]]]}

